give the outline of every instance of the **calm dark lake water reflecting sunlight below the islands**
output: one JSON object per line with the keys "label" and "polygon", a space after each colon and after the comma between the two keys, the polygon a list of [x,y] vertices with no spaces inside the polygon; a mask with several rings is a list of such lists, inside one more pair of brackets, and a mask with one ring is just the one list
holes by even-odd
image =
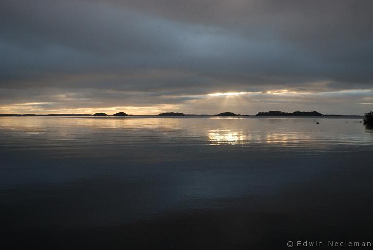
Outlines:
{"label": "calm dark lake water reflecting sunlight below the islands", "polygon": [[1,117],[1,242],[188,250],[373,242],[373,128],[358,121]]}

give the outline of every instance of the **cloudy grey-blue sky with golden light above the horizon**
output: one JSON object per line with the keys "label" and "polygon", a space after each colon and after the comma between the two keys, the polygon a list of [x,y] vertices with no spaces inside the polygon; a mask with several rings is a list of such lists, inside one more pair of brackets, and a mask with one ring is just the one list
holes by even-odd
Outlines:
{"label": "cloudy grey-blue sky with golden light above the horizon", "polygon": [[0,113],[373,109],[372,0],[0,0]]}

